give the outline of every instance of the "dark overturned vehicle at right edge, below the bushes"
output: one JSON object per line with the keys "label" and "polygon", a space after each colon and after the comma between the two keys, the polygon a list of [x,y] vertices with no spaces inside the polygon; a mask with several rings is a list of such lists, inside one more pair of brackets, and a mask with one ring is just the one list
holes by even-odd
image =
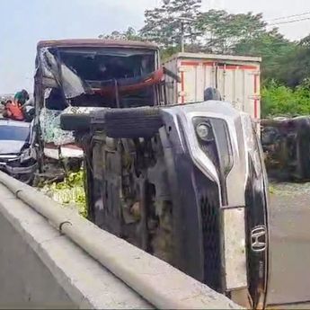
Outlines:
{"label": "dark overturned vehicle at right edge, below the bushes", "polygon": [[309,116],[261,120],[261,144],[272,180],[310,180]]}

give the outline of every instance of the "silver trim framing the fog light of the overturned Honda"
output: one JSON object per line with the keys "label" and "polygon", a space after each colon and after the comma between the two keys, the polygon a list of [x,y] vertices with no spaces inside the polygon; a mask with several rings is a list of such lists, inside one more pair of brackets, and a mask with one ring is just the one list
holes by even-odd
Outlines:
{"label": "silver trim framing the fog light of the overturned Honda", "polygon": [[244,190],[249,171],[241,113],[236,111],[228,102],[202,102],[174,106],[165,109],[165,111],[172,114],[173,118],[175,118],[176,115],[180,116],[182,127],[184,131],[186,131],[185,138],[193,162],[202,173],[204,173],[210,180],[217,183],[218,188],[220,187],[220,182],[217,168],[208,158],[208,155],[201,150],[192,120],[195,117],[199,117],[215,118],[226,121],[233,151],[234,165],[226,176],[227,204],[223,205],[222,199],[220,199],[220,203],[222,208],[244,206]]}

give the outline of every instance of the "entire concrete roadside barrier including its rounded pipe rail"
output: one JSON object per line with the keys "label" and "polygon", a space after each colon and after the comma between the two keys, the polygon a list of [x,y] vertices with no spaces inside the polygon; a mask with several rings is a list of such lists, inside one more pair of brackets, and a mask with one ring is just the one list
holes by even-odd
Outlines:
{"label": "entire concrete roadside barrier including its rounded pipe rail", "polygon": [[[240,309],[36,190],[3,173],[0,182],[0,307]],[[39,200],[45,217],[16,196]]]}

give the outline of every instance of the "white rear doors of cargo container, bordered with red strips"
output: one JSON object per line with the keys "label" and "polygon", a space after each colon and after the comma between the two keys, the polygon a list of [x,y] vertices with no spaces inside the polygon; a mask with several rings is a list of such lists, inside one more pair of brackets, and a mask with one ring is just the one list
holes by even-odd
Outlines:
{"label": "white rear doors of cargo container, bordered with red strips", "polygon": [[216,60],[179,59],[178,103],[202,102],[204,90],[217,88],[227,102],[253,120],[261,117],[259,64],[220,64]]}

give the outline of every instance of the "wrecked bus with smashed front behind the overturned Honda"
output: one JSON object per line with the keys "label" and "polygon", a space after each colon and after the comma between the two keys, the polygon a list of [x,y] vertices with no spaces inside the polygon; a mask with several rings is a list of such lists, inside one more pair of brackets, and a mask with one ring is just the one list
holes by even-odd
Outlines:
{"label": "wrecked bus with smashed front behind the overturned Honda", "polygon": [[159,58],[151,43],[41,41],[34,80],[40,173],[49,177],[81,167],[83,150],[75,145],[72,133],[60,128],[62,113],[164,102],[156,86],[163,70],[155,68]]}

